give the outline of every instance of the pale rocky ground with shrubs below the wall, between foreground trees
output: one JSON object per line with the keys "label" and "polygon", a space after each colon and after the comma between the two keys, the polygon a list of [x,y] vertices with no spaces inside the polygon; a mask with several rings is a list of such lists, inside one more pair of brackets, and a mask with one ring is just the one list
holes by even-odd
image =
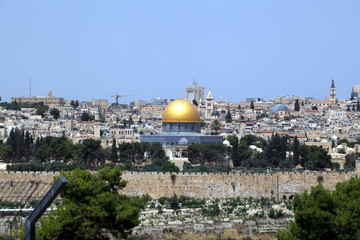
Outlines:
{"label": "pale rocky ground with shrubs below the wall, between foreground trees", "polygon": [[275,199],[152,199],[134,239],[274,239],[293,220],[290,201]]}

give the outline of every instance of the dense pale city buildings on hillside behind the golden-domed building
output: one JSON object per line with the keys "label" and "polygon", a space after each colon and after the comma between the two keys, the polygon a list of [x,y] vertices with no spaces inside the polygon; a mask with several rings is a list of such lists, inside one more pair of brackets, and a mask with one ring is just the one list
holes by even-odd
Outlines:
{"label": "dense pale city buildings on hillside behind the golden-domed building", "polygon": [[[336,98],[333,80],[327,99],[286,96],[272,100],[248,98],[238,103],[217,101],[211,91],[204,95],[204,89],[193,82],[186,89],[186,99],[200,113],[201,133],[222,136],[225,146],[231,145],[226,140],[230,135],[241,139],[251,134],[269,140],[278,134],[291,141],[296,137],[301,144],[326,149],[340,169],[344,168],[347,154],[359,151],[358,144],[347,143],[355,143],[360,135],[360,85],[353,86],[351,97],[344,100]],[[161,133],[163,111],[174,100],[156,98],[121,104],[125,96],[113,97],[115,102],[111,104],[103,99],[64,100],[53,97],[51,91],[47,97],[14,97],[11,103],[0,105],[0,141],[6,142],[11,131],[19,129],[29,132],[34,140],[66,137],[78,144],[94,139],[103,148],[111,148],[114,140],[116,144],[140,142],[141,135]],[[256,144],[249,147],[264,151]],[[6,154],[2,149],[0,158],[6,160]],[[169,157],[174,161],[187,159],[185,154]]]}

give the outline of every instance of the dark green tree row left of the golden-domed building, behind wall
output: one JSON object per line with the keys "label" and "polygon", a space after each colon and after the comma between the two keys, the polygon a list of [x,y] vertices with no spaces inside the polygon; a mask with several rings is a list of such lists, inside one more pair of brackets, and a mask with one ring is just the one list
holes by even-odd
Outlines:
{"label": "dark green tree row left of the golden-domed building, behind wall", "polygon": [[[122,164],[127,169],[149,165],[145,170],[179,171],[170,164],[159,143],[123,143],[103,148],[100,140],[85,139],[73,144],[65,136],[33,139],[27,131],[13,129],[5,143],[0,143],[0,159],[9,170],[59,171],[68,165],[95,169],[105,163]],[[15,164],[16,163],[16,164]],[[18,165],[21,164],[21,165]]]}

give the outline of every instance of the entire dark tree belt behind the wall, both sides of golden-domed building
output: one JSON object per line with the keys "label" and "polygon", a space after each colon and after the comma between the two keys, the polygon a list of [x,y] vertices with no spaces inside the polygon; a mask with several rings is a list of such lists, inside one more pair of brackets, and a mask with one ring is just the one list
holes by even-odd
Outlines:
{"label": "entire dark tree belt behind the wall, both sides of golden-domed building", "polygon": [[[240,140],[235,135],[227,139],[230,147],[211,144],[189,146],[189,161],[200,166],[187,164],[184,170],[229,171],[230,160],[235,168],[292,169],[298,165],[310,170],[338,168],[325,149],[300,144],[296,137],[290,139],[289,136],[275,134],[266,141],[249,134]],[[354,168],[357,157],[356,154],[346,156],[346,170]],[[17,171],[59,171],[71,169],[71,166],[95,169],[105,163],[122,165],[134,171],[179,171],[168,161],[160,143],[117,144],[113,139],[111,147],[103,148],[100,140],[85,139],[73,144],[65,136],[33,139],[29,132],[19,129],[13,129],[7,141],[0,143],[0,159],[13,163],[9,170]]]}

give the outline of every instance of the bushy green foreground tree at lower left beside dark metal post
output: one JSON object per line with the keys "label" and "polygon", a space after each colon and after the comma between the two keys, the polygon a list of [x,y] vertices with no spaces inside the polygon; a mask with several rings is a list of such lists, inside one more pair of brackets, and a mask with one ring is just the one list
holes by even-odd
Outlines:
{"label": "bushy green foreground tree at lower left beside dark metal post", "polygon": [[125,238],[140,223],[146,198],[119,194],[126,186],[119,168],[106,167],[98,174],[75,169],[61,174],[69,184],[61,192],[62,204],[42,217],[37,238],[110,239]]}

